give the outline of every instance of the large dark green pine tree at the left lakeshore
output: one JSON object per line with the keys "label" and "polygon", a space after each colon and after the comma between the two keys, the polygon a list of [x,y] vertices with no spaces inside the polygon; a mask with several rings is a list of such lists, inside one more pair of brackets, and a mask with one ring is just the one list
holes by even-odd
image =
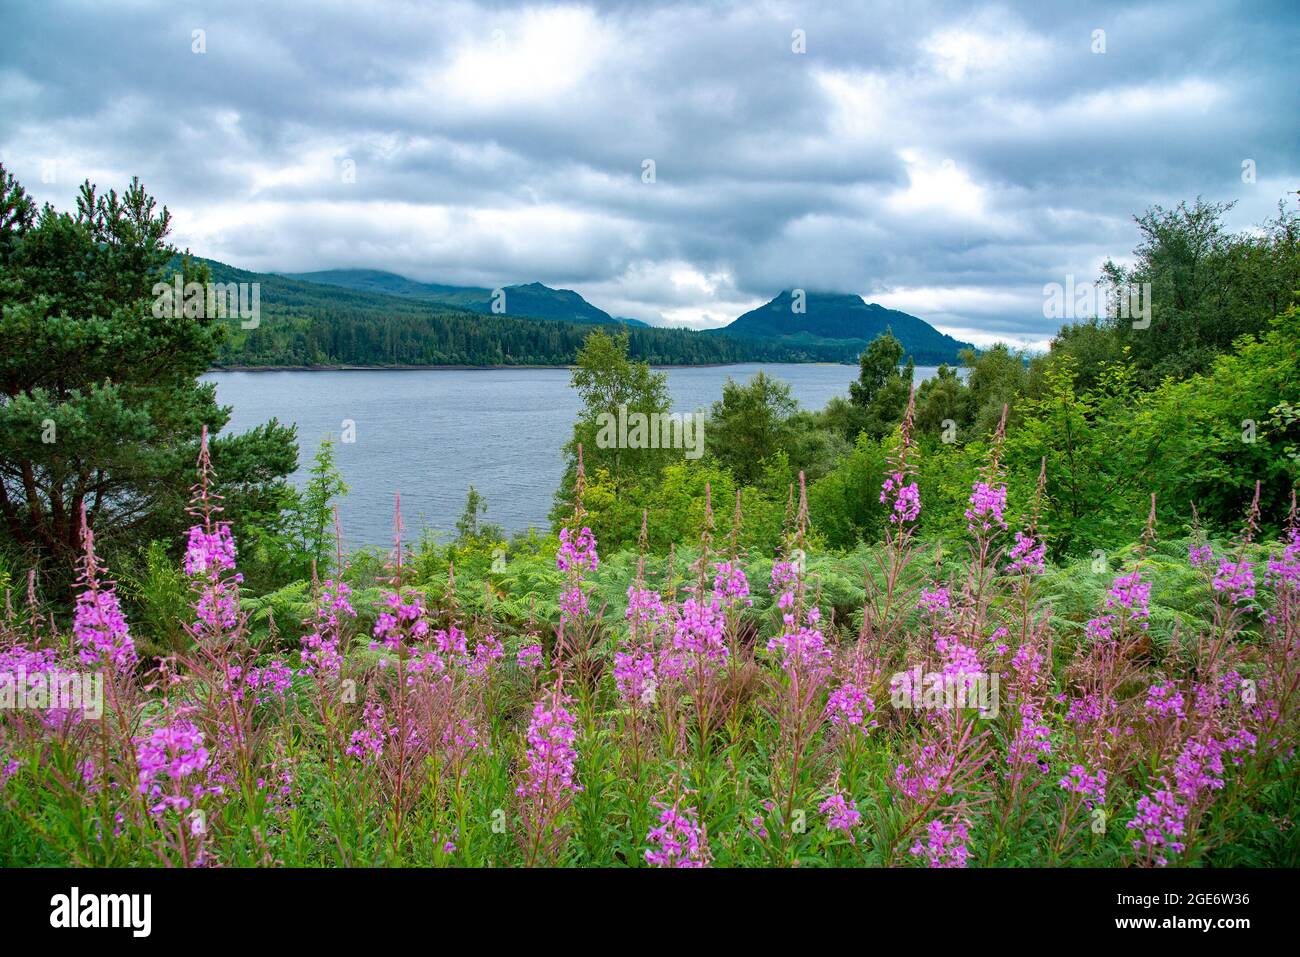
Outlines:
{"label": "large dark green pine tree at the left lakeshore", "polygon": [[[86,182],[74,212],[36,213],[0,166],[0,528],[62,575],[83,507],[109,544],[179,534],[202,426],[229,419],[199,382],[222,322],[153,308],[169,229],[136,179],[121,195]],[[181,272],[207,280],[188,259]],[[294,469],[294,430],[214,441],[212,459],[234,518]]]}

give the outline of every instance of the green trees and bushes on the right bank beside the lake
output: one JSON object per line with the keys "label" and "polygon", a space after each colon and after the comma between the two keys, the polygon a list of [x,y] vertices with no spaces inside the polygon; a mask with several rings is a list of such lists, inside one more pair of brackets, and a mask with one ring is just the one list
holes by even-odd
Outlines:
{"label": "green trees and bushes on the right bank beside the lake", "polygon": [[[923,536],[949,538],[965,528],[968,489],[1004,408],[1013,486],[1032,488],[1045,460],[1057,558],[1131,544],[1153,493],[1158,529],[1180,534],[1193,508],[1210,528],[1231,527],[1258,481],[1262,520],[1280,527],[1300,477],[1297,222],[1282,211],[1260,230],[1230,234],[1225,211],[1196,203],[1139,217],[1135,265],[1114,276],[1152,283],[1149,328],[1104,316],[1067,324],[1043,355],[967,350],[965,377],[941,367],[916,390]],[[911,381],[905,358],[893,335],[880,335],[863,350],[849,395],[823,410],[798,408],[766,376],[729,382],[706,421],[698,460],[680,450],[595,450],[594,421],[611,408],[614,391],[584,391],[556,515],[569,501],[581,441],[590,524],[608,545],[634,544],[649,506],[659,518],[653,545],[667,547],[698,523],[711,486],[716,502],[740,494],[742,536],[770,551],[800,473],[820,544],[852,549],[874,541],[887,511],[862,490],[883,473],[897,442]],[[625,350],[603,332],[588,339],[578,369],[627,384],[640,397],[632,408],[662,408],[662,380],[629,367]],[[725,528],[725,516],[719,521]]]}

